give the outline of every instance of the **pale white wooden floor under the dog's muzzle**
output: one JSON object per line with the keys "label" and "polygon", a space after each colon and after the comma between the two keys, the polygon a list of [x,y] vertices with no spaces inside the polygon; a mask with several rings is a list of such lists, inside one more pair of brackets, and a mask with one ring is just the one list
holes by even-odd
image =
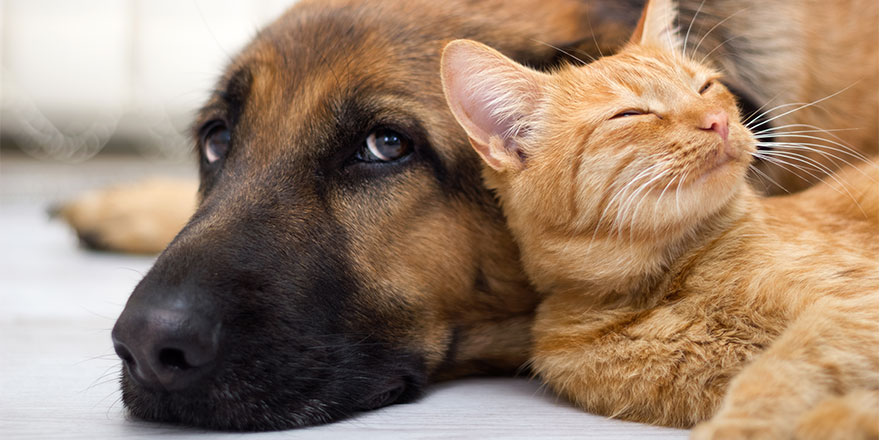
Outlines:
{"label": "pale white wooden floor under the dog's muzzle", "polygon": [[192,174],[188,164],[101,159],[62,165],[0,157],[0,438],[687,437],[686,431],[585,414],[534,382],[512,378],[444,383],[416,403],[286,432],[224,434],[127,419],[110,329],[152,259],[79,249],[45,209],[78,190],[156,170]]}

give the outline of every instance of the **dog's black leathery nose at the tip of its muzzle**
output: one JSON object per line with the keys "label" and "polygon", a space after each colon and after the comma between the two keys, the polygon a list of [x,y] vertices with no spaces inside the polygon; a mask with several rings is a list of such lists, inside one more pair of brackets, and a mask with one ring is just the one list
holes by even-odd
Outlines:
{"label": "dog's black leathery nose at the tip of its muzzle", "polygon": [[149,388],[178,391],[217,360],[219,321],[192,307],[129,303],[113,327],[113,348],[131,376]]}

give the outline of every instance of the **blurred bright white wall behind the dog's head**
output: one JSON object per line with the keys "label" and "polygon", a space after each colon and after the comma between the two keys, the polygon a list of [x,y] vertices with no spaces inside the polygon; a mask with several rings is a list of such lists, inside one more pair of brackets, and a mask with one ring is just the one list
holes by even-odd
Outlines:
{"label": "blurred bright white wall behind the dog's head", "polygon": [[111,136],[180,157],[229,57],[293,0],[0,0],[0,130],[84,160]]}

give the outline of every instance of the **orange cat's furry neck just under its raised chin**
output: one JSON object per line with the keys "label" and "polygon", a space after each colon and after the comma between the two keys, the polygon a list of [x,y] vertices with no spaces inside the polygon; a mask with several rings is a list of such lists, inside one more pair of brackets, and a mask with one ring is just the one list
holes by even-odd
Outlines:
{"label": "orange cat's furry neck just under its raised chin", "polygon": [[739,225],[760,217],[759,206],[755,192],[743,185],[715,214],[676,233],[516,235],[525,269],[540,292],[583,292],[605,306],[650,306],[656,301],[652,295],[662,295],[657,287],[673,276],[671,268],[733,239]]}

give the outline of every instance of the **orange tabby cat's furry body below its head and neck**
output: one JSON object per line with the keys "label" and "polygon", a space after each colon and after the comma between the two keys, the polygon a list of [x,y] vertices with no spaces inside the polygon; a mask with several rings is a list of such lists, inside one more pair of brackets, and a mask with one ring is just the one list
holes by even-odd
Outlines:
{"label": "orange tabby cat's furry body below its head and neck", "polygon": [[[758,421],[876,390],[876,184],[863,180],[861,206],[874,213],[864,222],[827,182],[776,199],[744,187],[712,230],[626,297],[553,290],[536,318],[533,368],[592,412],[680,427],[714,415],[737,376],[731,390],[744,395],[730,394],[731,411]],[[876,423],[876,407],[862,412]]]}

